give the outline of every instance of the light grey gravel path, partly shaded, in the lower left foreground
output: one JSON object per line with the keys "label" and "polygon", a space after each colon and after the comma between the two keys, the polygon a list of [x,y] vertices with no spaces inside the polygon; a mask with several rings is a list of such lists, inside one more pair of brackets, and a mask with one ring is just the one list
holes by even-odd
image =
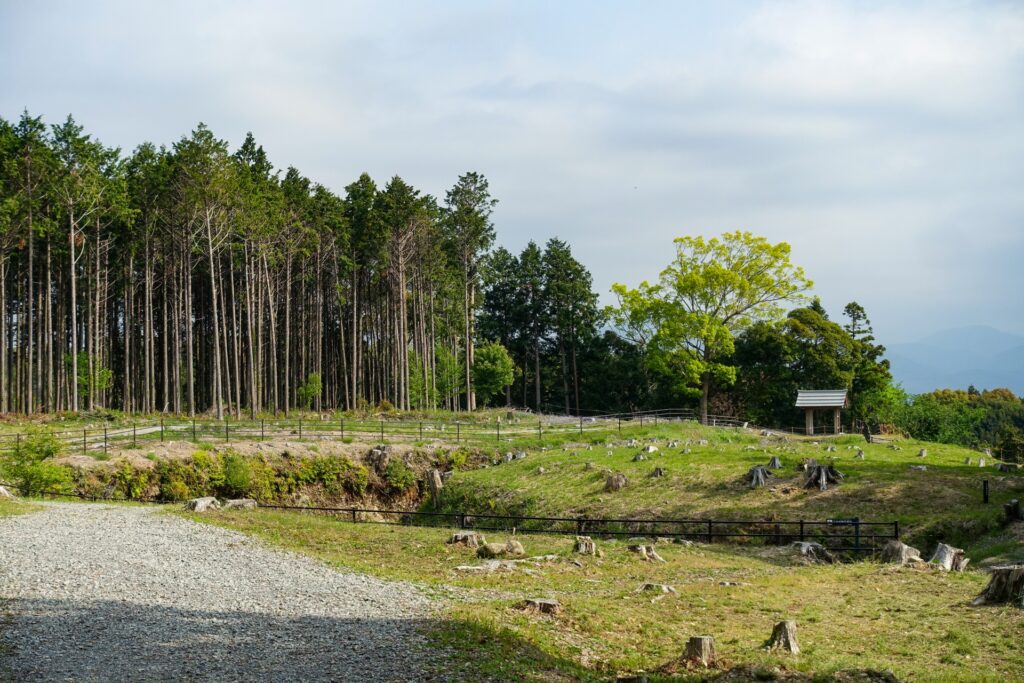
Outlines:
{"label": "light grey gravel path, partly shaded, in the lower left foreground", "polygon": [[104,505],[0,518],[0,599],[16,681],[423,680],[431,618],[415,587]]}

